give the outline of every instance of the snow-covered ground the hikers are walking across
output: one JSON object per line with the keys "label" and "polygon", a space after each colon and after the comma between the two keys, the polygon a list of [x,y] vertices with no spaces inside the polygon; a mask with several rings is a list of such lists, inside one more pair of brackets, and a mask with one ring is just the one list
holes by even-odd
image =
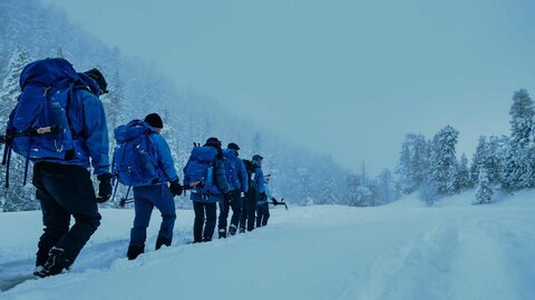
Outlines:
{"label": "snow-covered ground the hikers are walking across", "polygon": [[[500,198],[499,196],[496,198]],[[105,210],[70,273],[8,299],[535,299],[535,192],[471,206],[471,192],[424,207],[272,210],[266,228],[210,243],[178,211],[173,247],[125,257],[130,210]],[[153,216],[153,248],[159,216]],[[40,212],[0,214],[0,280],[30,271]]]}

